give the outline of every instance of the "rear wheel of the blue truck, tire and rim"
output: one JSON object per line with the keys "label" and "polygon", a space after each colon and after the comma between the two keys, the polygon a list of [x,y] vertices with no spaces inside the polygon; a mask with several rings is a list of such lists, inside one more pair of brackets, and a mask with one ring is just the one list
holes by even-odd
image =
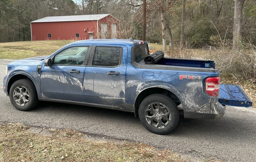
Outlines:
{"label": "rear wheel of the blue truck, tire and rim", "polygon": [[172,99],[162,94],[151,94],[140,103],[139,118],[148,131],[164,135],[177,127],[180,114]]}

